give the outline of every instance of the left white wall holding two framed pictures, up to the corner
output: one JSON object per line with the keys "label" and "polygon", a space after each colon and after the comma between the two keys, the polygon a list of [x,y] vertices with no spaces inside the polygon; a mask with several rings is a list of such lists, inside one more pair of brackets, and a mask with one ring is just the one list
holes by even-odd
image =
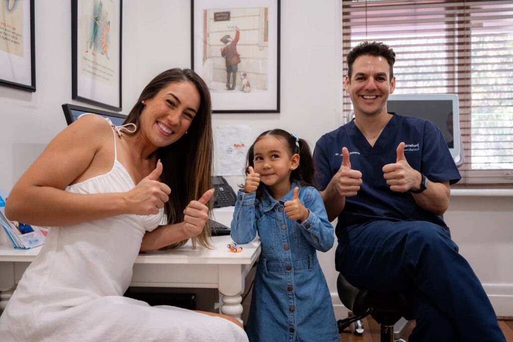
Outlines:
{"label": "left white wall holding two framed pictures, up to the corner", "polygon": [[[137,99],[138,2],[123,3],[123,113]],[[46,6],[46,7],[45,7]],[[36,91],[0,86],[0,189],[10,191],[48,142],[66,127],[61,104],[71,100],[71,3],[35,2]],[[61,18],[61,20],[49,20]],[[5,241],[5,240],[4,240]]]}

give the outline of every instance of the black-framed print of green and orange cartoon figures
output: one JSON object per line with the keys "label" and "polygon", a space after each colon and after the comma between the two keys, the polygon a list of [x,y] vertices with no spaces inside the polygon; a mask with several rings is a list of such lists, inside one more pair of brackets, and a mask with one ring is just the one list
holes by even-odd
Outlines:
{"label": "black-framed print of green and orange cartoon figures", "polygon": [[121,110],[122,0],[71,1],[72,99]]}

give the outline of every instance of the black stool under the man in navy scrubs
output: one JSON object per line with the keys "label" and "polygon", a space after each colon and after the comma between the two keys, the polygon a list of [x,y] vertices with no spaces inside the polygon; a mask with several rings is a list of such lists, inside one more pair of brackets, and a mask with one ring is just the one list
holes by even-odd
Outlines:
{"label": "black stool under the man in navy scrubs", "polygon": [[371,315],[381,326],[381,342],[393,342],[393,325],[401,318],[413,319],[406,297],[400,292],[377,292],[352,286],[342,274],[337,279],[340,300],[355,317],[338,321],[339,332],[352,322]]}

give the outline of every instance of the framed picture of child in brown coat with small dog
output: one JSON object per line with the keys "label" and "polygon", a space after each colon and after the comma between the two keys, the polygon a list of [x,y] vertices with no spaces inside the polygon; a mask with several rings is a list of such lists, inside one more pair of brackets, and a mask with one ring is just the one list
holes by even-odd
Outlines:
{"label": "framed picture of child in brown coat with small dog", "polygon": [[280,112],[280,0],[191,0],[191,30],[214,113]]}

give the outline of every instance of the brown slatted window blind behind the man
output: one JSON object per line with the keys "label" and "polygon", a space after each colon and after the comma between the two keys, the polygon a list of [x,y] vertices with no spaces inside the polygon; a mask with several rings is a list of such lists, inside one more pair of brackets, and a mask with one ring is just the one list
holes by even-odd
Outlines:
{"label": "brown slatted window blind behind the man", "polygon": [[513,1],[343,0],[344,76],[362,41],[396,52],[394,94],[458,94],[460,183],[513,185]]}

